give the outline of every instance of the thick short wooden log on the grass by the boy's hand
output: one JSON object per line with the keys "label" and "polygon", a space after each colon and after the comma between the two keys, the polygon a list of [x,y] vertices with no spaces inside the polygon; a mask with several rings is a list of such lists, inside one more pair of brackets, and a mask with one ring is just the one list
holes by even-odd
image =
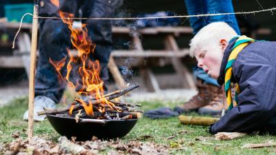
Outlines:
{"label": "thick short wooden log on the grass by the boy's hand", "polygon": [[200,117],[200,116],[184,116],[180,115],[178,116],[179,121],[181,124],[186,125],[202,125],[202,126],[208,126],[216,121],[219,121],[219,118],[213,118],[213,117]]}

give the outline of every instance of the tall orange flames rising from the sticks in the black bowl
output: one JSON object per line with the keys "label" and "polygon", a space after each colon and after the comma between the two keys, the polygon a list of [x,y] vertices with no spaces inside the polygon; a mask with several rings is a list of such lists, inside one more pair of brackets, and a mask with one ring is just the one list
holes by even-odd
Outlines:
{"label": "tall orange flames rising from the sticks in the black bowl", "polygon": [[[71,19],[72,17],[74,17],[74,14],[61,11],[59,11],[59,14],[62,17],[63,23],[66,23],[71,31],[70,41],[73,47],[77,49],[77,56],[73,56],[72,52],[69,49],[67,49],[68,56],[70,57],[67,64],[65,64],[67,57],[57,62],[54,62],[52,61],[52,59],[50,59],[50,63],[55,67],[59,76],[61,76],[61,68],[66,66],[66,76],[61,76],[61,79],[63,79],[63,81],[66,81],[68,87],[77,87],[79,89],[77,94],[92,96],[95,97],[97,100],[101,100],[102,106],[99,107],[99,112],[105,112],[106,108],[111,108],[113,110],[112,107],[114,105],[103,97],[104,90],[103,81],[100,79],[99,76],[101,71],[99,61],[91,61],[89,59],[90,55],[93,54],[96,45],[88,36],[86,24],[82,24],[81,28],[74,29],[72,27],[73,20]],[[77,68],[77,71],[81,80],[77,81],[76,84],[70,81],[71,71],[72,68],[75,66],[73,65],[74,63],[80,63],[80,66],[79,68]],[[86,114],[91,116],[94,114],[93,105],[91,101],[89,101],[88,103],[81,99],[77,99],[76,101],[83,106]],[[70,115],[72,114],[74,108],[75,105],[71,105],[69,110]]]}

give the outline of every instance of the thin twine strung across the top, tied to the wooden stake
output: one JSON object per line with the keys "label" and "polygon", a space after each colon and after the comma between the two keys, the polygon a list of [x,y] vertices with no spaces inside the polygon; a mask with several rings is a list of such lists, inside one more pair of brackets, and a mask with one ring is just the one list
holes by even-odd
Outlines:
{"label": "thin twine strung across the top, tied to the wooden stake", "polygon": [[180,15],[180,16],[164,16],[164,17],[126,17],[126,18],[77,18],[77,17],[72,17],[72,18],[62,18],[62,17],[33,17],[33,14],[26,13],[23,15],[20,21],[20,26],[19,30],[17,31],[17,34],[15,34],[13,43],[12,43],[12,48],[14,48],[14,42],[15,39],[17,38],[17,35],[19,34],[21,30],[21,25],[23,18],[26,15],[32,16],[33,19],[79,19],[79,20],[137,20],[137,19],[174,19],[174,18],[190,18],[190,17],[212,17],[212,16],[221,16],[221,15],[230,15],[230,14],[255,14],[259,12],[268,12],[270,11],[273,15],[273,10],[276,10],[275,7],[270,8],[270,9],[264,9],[264,10],[256,10],[256,11],[250,11],[250,12],[230,12],[230,13],[213,13],[213,14],[195,14],[195,15]]}

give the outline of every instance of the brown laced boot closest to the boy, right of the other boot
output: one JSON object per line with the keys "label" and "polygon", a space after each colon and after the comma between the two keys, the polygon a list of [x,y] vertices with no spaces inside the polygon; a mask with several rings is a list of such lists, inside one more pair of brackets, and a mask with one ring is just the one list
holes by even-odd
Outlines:
{"label": "brown laced boot closest to the boy, right of the other boot", "polygon": [[[198,113],[201,115],[221,116],[223,110],[227,110],[226,96],[223,88],[220,87],[215,93],[214,98],[204,107],[199,108]],[[224,112],[225,112],[224,111]]]}

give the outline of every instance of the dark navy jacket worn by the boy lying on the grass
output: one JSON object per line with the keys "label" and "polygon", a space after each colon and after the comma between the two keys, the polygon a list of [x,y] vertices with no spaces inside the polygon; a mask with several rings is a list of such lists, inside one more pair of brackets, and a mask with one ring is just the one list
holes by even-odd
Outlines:
{"label": "dark navy jacket worn by the boy lying on the grass", "polygon": [[[224,83],[224,70],[235,40],[224,52],[218,83]],[[228,111],[209,132],[253,132],[262,130],[276,112],[276,42],[255,41],[242,50],[233,63],[233,82],[241,93],[237,106]],[[276,128],[275,128],[276,129]]]}

